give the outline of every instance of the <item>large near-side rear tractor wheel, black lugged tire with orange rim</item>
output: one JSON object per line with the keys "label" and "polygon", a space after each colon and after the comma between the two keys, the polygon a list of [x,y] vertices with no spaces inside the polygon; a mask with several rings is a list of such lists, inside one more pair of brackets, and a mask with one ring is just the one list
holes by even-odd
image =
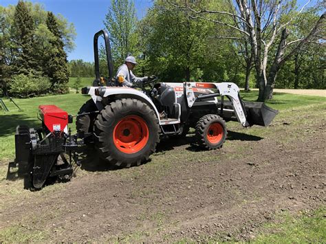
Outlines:
{"label": "large near-side rear tractor wheel, black lugged tire with orange rim", "polygon": [[149,160],[160,142],[155,112],[144,102],[125,98],[108,104],[94,125],[96,148],[110,164],[139,166]]}

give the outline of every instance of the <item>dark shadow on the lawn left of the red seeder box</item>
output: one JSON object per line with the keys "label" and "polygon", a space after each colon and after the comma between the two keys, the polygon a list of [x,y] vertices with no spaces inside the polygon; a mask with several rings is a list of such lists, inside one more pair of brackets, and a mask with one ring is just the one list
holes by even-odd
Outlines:
{"label": "dark shadow on the lawn left of the red seeder box", "polygon": [[17,125],[28,125],[31,128],[40,126],[40,122],[26,115],[0,115],[0,136],[14,135]]}

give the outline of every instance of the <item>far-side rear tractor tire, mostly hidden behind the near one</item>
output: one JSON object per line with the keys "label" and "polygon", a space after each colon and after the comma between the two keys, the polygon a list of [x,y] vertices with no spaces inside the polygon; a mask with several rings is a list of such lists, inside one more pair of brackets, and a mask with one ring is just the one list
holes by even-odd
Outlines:
{"label": "far-side rear tractor tire, mostly hidden behind the near one", "polygon": [[86,115],[83,115],[83,113],[89,113],[97,110],[98,109],[92,99],[88,100],[82,107],[80,107],[78,116],[76,118],[76,129],[78,133],[89,133],[94,131],[96,113]]}

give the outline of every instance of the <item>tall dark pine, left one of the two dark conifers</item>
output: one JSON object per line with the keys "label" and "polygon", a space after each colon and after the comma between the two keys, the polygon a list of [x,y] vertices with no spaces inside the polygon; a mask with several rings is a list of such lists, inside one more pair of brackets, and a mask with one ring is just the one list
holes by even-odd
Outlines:
{"label": "tall dark pine, left one of the two dark conifers", "polygon": [[27,5],[19,1],[12,23],[12,45],[17,58],[12,63],[12,74],[32,74],[37,68],[34,55],[34,21]]}

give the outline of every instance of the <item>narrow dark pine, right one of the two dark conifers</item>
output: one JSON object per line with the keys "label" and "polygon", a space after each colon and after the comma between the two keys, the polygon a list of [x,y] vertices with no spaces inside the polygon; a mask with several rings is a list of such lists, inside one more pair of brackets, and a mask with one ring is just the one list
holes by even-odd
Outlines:
{"label": "narrow dark pine, right one of the two dark conifers", "polygon": [[52,12],[47,12],[46,23],[47,28],[56,37],[54,41],[50,41],[52,52],[47,57],[47,76],[52,82],[52,90],[56,93],[66,93],[68,91],[69,71],[67,54],[63,49],[62,33],[58,27],[56,16]]}

